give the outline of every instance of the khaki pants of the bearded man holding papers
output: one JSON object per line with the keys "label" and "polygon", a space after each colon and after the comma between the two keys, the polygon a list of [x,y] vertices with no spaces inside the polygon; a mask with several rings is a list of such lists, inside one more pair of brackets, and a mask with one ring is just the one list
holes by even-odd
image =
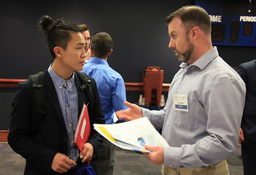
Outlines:
{"label": "khaki pants of the bearded man holding papers", "polygon": [[199,168],[170,168],[163,165],[161,175],[229,175],[229,171],[227,161],[223,160],[212,166]]}

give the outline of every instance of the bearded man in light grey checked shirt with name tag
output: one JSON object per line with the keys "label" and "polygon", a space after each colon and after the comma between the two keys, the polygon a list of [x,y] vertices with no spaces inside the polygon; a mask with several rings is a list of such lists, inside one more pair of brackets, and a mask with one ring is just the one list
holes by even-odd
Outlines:
{"label": "bearded man in light grey checked shirt with name tag", "polygon": [[225,159],[236,152],[245,103],[245,83],[211,44],[211,20],[199,6],[185,6],[166,18],[169,48],[180,64],[166,107],[150,111],[125,102],[119,119],[148,117],[162,129],[168,147],[148,146],[164,175],[228,175]]}

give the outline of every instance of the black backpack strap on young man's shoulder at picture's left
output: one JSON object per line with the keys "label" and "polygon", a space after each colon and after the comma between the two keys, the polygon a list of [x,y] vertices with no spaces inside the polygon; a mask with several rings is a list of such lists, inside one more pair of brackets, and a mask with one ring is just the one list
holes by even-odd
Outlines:
{"label": "black backpack strap on young man's shoulder at picture's left", "polygon": [[45,78],[43,72],[36,75],[29,75],[32,88],[32,124],[31,134],[34,135],[42,116],[45,114],[45,106],[47,100],[47,90],[45,86]]}

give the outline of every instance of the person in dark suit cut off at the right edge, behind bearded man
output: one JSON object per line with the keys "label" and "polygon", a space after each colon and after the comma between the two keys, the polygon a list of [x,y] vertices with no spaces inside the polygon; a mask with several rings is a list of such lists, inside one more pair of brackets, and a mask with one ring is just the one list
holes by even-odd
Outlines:
{"label": "person in dark suit cut off at the right edge, behind bearded man", "polygon": [[239,138],[244,175],[254,175],[256,173],[256,59],[240,64],[237,73],[246,85],[245,105]]}

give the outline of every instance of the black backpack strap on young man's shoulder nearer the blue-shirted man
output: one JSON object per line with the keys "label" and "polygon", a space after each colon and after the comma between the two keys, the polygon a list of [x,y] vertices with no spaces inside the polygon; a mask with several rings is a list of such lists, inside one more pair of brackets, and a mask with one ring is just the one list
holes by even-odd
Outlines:
{"label": "black backpack strap on young man's shoulder nearer the blue-shirted man", "polygon": [[80,88],[82,90],[86,90],[86,94],[87,94],[87,97],[88,97],[88,100],[89,100],[89,105],[91,107],[91,114],[93,114],[93,89],[92,89],[92,81],[90,80],[90,78],[88,77],[87,74],[85,73],[81,73],[81,72],[78,72],[78,71],[75,71],[76,74],[78,75],[79,79],[81,80],[82,82],[82,86],[80,86]]}

